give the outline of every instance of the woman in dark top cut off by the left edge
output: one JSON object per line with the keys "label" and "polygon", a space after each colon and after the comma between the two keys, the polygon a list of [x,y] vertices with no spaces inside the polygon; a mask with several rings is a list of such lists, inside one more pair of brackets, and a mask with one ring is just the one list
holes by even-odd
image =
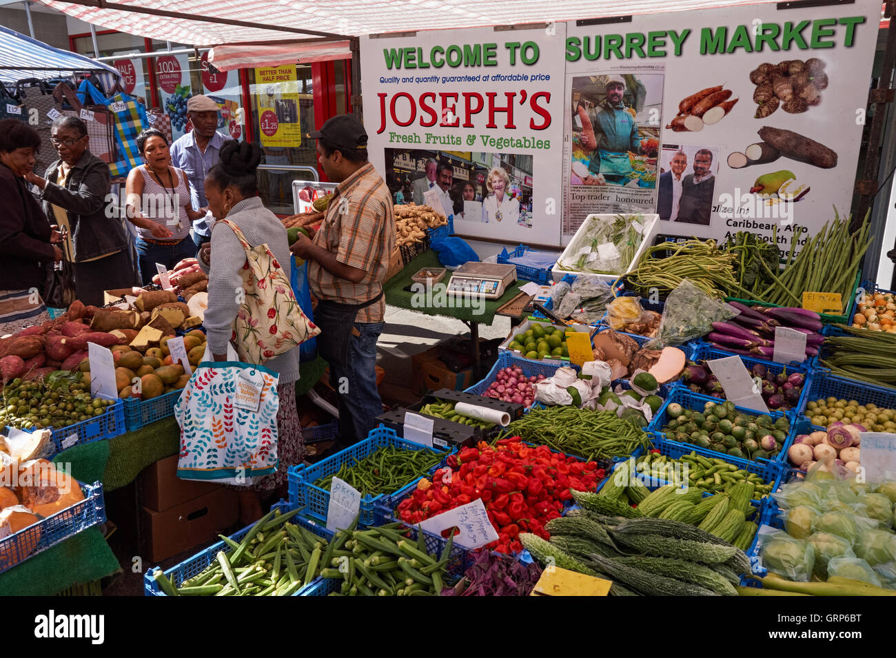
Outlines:
{"label": "woman in dark top cut off by the left edge", "polygon": [[0,121],[0,336],[50,319],[41,297],[47,263],[62,260],[62,236],[50,228],[25,175],[34,170],[38,133],[18,119]]}

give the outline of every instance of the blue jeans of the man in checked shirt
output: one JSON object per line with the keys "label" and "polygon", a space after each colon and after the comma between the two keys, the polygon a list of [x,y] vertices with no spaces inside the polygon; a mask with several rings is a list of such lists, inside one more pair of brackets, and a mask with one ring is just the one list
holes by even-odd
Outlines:
{"label": "blue jeans of the man in checked shirt", "polygon": [[[383,400],[376,389],[376,340],[383,322],[355,322],[360,336],[349,341],[349,366],[330,363],[330,385],[339,394],[339,438],[335,450],[365,440],[383,413]],[[344,378],[344,379],[343,379]]]}

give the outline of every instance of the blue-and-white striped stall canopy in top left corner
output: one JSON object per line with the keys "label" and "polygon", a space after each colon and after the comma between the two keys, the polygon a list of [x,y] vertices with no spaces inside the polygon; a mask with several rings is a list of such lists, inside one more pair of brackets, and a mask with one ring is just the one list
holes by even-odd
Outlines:
{"label": "blue-and-white striped stall canopy in top left corner", "polygon": [[121,73],[89,57],[26,37],[0,25],[0,81],[14,83],[23,78],[46,80],[72,73]]}

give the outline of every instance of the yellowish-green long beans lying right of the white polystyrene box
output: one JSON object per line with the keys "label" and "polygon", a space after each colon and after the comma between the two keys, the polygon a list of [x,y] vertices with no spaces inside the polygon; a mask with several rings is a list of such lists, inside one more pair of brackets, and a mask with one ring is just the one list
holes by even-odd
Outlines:
{"label": "yellowish-green long beans lying right of the white polystyrene box", "polygon": [[[654,258],[654,254],[665,251],[671,252],[666,258]],[[645,250],[638,267],[625,278],[642,294],[655,289],[667,295],[686,278],[707,295],[724,297],[730,290],[744,290],[734,278],[732,264],[736,258],[734,253],[721,251],[714,240],[665,242]]]}

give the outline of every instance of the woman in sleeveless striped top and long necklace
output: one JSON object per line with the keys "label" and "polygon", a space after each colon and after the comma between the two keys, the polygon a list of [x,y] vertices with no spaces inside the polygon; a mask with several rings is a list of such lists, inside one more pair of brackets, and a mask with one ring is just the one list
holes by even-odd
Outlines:
{"label": "woman in sleeveless striped top and long necklace", "polygon": [[144,164],[127,175],[127,216],[137,227],[137,257],[143,285],[151,283],[156,263],[172,269],[195,255],[190,226],[205,213],[190,205],[190,188],[182,169],[171,166],[168,140],[149,128],[137,137]]}

